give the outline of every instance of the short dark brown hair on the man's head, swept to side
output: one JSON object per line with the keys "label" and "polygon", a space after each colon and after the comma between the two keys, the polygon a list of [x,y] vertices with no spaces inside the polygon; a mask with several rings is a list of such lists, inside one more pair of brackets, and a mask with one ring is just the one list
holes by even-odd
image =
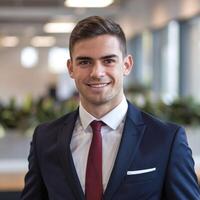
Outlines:
{"label": "short dark brown hair on the man's head, swept to side", "polygon": [[104,34],[117,37],[120,42],[123,56],[127,54],[126,38],[122,28],[110,19],[100,16],[91,16],[79,21],[71,33],[69,39],[69,50],[71,58],[74,45],[78,41]]}

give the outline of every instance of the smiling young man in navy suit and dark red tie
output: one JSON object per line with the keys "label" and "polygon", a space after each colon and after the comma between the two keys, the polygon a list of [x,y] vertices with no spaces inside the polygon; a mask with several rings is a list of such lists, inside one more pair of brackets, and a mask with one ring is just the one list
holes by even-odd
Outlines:
{"label": "smiling young man in navy suit and dark red tie", "polygon": [[133,60],[120,26],[98,16],[80,21],[70,55],[80,106],[36,128],[21,199],[200,199],[183,128],[124,96]]}

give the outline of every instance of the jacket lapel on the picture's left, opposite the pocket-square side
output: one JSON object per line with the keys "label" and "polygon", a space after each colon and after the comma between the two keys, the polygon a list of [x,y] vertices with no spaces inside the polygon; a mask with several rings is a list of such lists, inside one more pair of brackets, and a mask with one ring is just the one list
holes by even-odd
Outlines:
{"label": "jacket lapel on the picture's left, opposite the pocket-square side", "polygon": [[57,148],[59,152],[59,159],[63,167],[64,174],[71,186],[76,199],[84,199],[84,193],[76,173],[71,150],[70,141],[74,130],[75,122],[78,116],[78,110],[71,113],[62,127],[61,133],[58,134]]}

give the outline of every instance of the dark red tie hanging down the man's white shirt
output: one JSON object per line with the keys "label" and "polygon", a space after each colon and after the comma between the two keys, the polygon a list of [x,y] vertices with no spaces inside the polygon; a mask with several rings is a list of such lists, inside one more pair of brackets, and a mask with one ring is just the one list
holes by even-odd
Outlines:
{"label": "dark red tie hanging down the man's white shirt", "polygon": [[85,194],[87,200],[102,200],[102,121],[92,121],[93,136],[88,154]]}

